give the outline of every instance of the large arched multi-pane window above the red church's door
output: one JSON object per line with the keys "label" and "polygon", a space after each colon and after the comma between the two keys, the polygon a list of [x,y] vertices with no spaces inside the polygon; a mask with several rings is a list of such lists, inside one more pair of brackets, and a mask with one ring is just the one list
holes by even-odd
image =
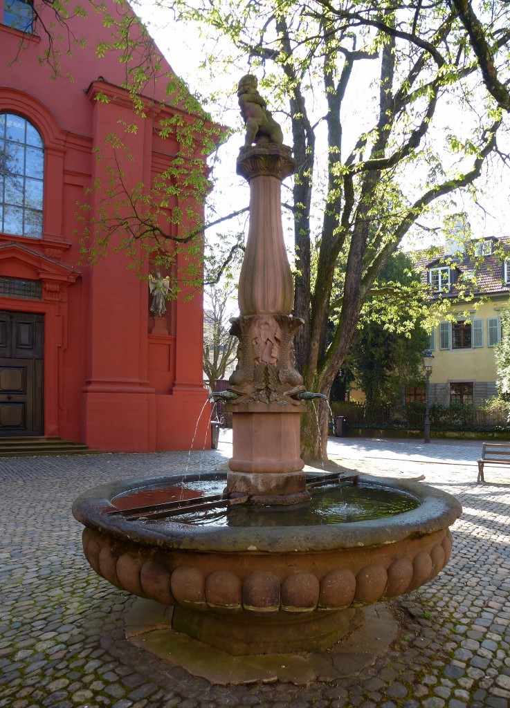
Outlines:
{"label": "large arched multi-pane window above the red church's door", "polygon": [[0,113],[0,232],[42,239],[44,149],[35,127]]}

